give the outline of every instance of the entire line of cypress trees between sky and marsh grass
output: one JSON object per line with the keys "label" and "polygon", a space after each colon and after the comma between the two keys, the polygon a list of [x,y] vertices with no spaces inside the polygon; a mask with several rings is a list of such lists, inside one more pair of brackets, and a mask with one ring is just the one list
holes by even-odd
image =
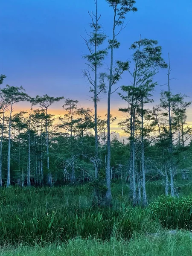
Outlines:
{"label": "entire line of cypress trees between sky and marsh grass", "polygon": [[[79,108],[78,101],[64,97],[30,97],[23,87],[6,85],[0,89],[0,186],[42,186],[89,180],[94,187],[93,204],[111,205],[111,180],[126,182],[133,205],[148,204],[146,182],[163,179],[165,195],[176,196],[175,179],[188,178],[191,169],[192,129],[187,125],[186,95],[171,91],[171,64],[163,59],[156,40],[142,38],[130,46],[131,61],[114,60],[120,47],[118,35],[125,28],[125,17],[137,12],[134,0],[106,0],[113,12],[112,38],[104,47],[107,36],[100,25],[101,15],[95,0],[95,12],[90,16],[91,32],[83,38],[87,46],[84,55],[87,68],[83,75],[90,84],[94,109]],[[110,65],[103,72],[108,56]],[[153,92],[160,69],[167,74],[160,93],[160,104],[153,106]],[[123,73],[131,76],[128,85],[121,86],[119,108],[124,118],[119,126],[128,140],[111,140],[111,95]],[[6,76],[0,76],[0,84]],[[98,115],[102,93],[107,94],[106,118]],[[30,102],[29,111],[13,114],[13,106]],[[55,119],[49,108],[63,101],[64,114]],[[123,193],[123,191],[122,191]]]}

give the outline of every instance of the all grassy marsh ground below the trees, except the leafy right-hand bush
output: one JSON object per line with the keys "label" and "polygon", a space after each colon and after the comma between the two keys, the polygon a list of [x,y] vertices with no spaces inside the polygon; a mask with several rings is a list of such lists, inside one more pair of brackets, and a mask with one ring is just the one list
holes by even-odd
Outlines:
{"label": "all grassy marsh ground below the trees, except the leafy right-hand bush", "polygon": [[[188,181],[176,185],[192,198]],[[191,213],[186,224],[181,212],[162,221],[151,211],[161,180],[147,183],[146,209],[131,207],[126,183],[113,182],[112,194],[113,207],[98,209],[89,184],[0,189],[0,256],[192,256]]]}

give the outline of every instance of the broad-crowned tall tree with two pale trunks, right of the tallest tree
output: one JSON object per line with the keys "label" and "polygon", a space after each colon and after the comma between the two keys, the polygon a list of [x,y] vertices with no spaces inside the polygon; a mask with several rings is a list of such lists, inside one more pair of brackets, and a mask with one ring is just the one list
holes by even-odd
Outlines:
{"label": "broad-crowned tall tree with two pale trunks, right of the tallest tree", "polygon": [[[136,204],[136,182],[135,182],[135,122],[136,114],[140,116],[140,137],[141,137],[141,167],[143,175],[143,206],[147,205],[146,189],[145,189],[145,154],[144,154],[144,116],[146,110],[144,105],[152,102],[150,97],[156,82],[153,78],[159,68],[166,68],[167,64],[162,58],[162,49],[157,46],[158,42],[150,39],[141,39],[131,45],[134,49],[133,62],[134,72],[131,73],[133,82],[131,86],[122,86],[121,89],[127,93],[123,96],[119,95],[128,103],[128,108],[119,109],[122,112],[128,112],[130,116],[130,141],[131,141],[131,189],[133,191],[133,203]],[[138,122],[138,121],[137,121]]]}

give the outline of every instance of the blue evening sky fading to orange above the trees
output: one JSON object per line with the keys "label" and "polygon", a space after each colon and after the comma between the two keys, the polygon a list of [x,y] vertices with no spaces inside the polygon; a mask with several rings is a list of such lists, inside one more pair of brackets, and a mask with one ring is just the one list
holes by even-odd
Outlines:
{"label": "blue evening sky fading to orange above the trees", "polygon": [[[0,73],[6,74],[4,83],[22,85],[30,96],[49,94],[79,100],[79,106],[93,108],[89,85],[82,76],[86,68],[82,58],[87,53],[81,36],[89,32],[87,11],[95,10],[94,0],[1,0],[0,7]],[[114,58],[130,60],[130,45],[140,37],[157,40],[163,48],[163,58],[170,52],[173,93],[186,93],[192,101],[192,0],[185,5],[175,0],[136,0],[138,12],[128,13],[126,28],[118,36],[121,45]],[[105,0],[98,0],[98,13],[104,32],[111,38],[113,11]],[[107,70],[109,57],[103,68]],[[132,66],[130,67],[132,68]],[[167,81],[166,70],[156,77],[155,104]],[[116,85],[130,85],[131,78],[124,73]],[[117,90],[117,92],[120,89]],[[63,102],[54,105],[52,113],[62,113]],[[112,95],[111,109],[122,118],[118,108],[125,103],[117,93]],[[22,103],[15,109],[29,108]],[[107,96],[99,102],[99,113],[107,112]],[[188,111],[192,123],[192,107]]]}

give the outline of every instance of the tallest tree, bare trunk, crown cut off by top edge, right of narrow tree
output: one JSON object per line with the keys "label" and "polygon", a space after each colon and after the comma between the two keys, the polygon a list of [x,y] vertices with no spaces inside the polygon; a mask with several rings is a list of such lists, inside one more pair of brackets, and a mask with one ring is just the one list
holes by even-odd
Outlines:
{"label": "tallest tree, bare trunk, crown cut off by top edge, right of narrow tree", "polygon": [[[110,140],[110,116],[111,116],[111,94],[115,91],[112,91],[112,86],[116,84],[117,81],[121,78],[122,73],[125,70],[128,70],[129,64],[128,61],[116,61],[116,66],[113,68],[113,51],[114,49],[119,48],[120,43],[117,41],[116,37],[119,35],[121,30],[124,28],[125,15],[128,12],[136,12],[137,8],[134,7],[134,0],[106,0],[110,7],[113,9],[113,25],[112,25],[112,39],[108,41],[109,49],[111,50],[110,57],[110,68],[108,75],[108,116],[107,116],[107,168],[106,168],[106,204],[111,204],[111,180],[110,180],[110,170],[111,170],[111,140]],[[121,26],[119,31],[116,31],[116,28]]]}

